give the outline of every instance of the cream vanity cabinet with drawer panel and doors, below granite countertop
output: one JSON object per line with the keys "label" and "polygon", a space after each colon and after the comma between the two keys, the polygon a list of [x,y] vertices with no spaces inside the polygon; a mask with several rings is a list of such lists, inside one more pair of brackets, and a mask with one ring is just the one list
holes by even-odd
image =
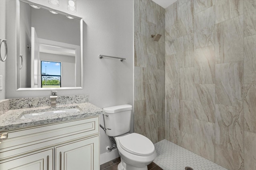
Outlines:
{"label": "cream vanity cabinet with drawer panel and doors, below granite countertop", "polygon": [[0,170],[99,170],[99,116],[4,132]]}

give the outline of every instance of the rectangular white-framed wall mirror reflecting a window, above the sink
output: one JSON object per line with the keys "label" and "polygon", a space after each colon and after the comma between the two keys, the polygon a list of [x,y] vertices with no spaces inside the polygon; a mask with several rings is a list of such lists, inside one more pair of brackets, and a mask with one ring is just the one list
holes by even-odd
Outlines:
{"label": "rectangular white-framed wall mirror reflecting a window, above the sink", "polygon": [[82,88],[82,18],[16,1],[17,90]]}

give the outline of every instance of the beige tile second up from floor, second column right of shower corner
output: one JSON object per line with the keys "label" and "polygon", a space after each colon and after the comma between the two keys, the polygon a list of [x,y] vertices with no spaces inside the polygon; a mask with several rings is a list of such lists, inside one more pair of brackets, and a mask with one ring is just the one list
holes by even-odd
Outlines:
{"label": "beige tile second up from floor, second column right of shower corner", "polygon": [[193,101],[180,100],[179,129],[185,133],[194,134]]}

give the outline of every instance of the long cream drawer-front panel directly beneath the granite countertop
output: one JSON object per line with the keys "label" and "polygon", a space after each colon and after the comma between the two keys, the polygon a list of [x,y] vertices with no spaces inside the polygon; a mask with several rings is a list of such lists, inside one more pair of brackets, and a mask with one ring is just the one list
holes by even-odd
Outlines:
{"label": "long cream drawer-front panel directly beneath the granite countertop", "polygon": [[97,134],[98,127],[97,116],[8,132],[8,139],[0,144],[0,160],[17,153]]}

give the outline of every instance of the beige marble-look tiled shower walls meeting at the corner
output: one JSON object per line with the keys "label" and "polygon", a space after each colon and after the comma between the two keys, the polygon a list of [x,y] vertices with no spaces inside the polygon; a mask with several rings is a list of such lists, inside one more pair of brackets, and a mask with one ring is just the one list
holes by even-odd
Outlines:
{"label": "beige marble-look tiled shower walls meeting at the corner", "polygon": [[256,0],[134,1],[134,131],[253,170],[255,25]]}

